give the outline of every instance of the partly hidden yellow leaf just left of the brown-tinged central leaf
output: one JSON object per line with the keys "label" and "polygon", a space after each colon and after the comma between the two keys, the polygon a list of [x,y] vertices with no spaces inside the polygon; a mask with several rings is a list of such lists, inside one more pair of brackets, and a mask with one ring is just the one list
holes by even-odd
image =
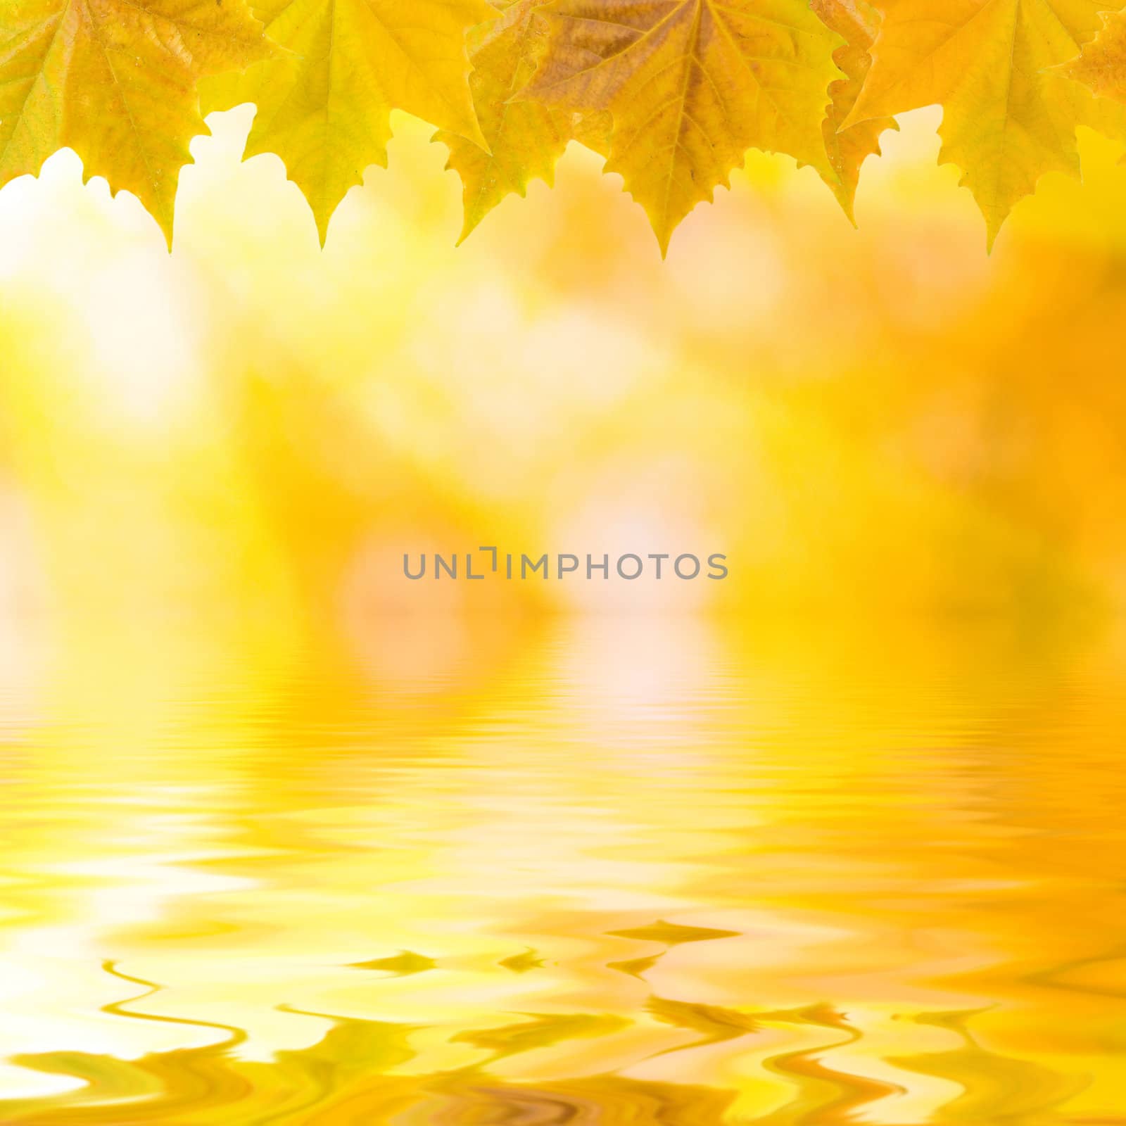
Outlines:
{"label": "partly hidden yellow leaf just left of the brown-tinged central leaf", "polygon": [[468,137],[440,129],[447,168],[464,184],[465,225],[459,242],[506,196],[524,196],[531,180],[552,185],[555,164],[573,135],[571,114],[535,101],[513,101],[536,69],[544,27],[536,9],[547,0],[499,0],[499,19],[470,33],[470,89],[488,151]]}

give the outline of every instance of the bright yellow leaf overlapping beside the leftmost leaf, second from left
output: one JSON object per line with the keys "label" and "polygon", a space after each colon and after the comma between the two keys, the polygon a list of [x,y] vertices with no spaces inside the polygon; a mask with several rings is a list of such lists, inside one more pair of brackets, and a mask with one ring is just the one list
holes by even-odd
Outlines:
{"label": "bright yellow leaf overlapping beside the leftmost leaf, second from left", "polygon": [[465,43],[497,16],[485,0],[265,0],[256,12],[286,54],[206,83],[204,105],[257,105],[245,155],[282,158],[322,243],[364,169],[386,168],[392,109],[488,148]]}

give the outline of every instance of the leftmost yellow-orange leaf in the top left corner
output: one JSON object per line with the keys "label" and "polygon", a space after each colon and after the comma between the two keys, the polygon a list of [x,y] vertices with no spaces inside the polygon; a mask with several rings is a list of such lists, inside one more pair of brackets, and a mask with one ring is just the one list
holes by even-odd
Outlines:
{"label": "leftmost yellow-orange leaf in the top left corner", "polygon": [[242,0],[0,0],[0,186],[71,148],[171,244],[199,79],[269,54]]}

